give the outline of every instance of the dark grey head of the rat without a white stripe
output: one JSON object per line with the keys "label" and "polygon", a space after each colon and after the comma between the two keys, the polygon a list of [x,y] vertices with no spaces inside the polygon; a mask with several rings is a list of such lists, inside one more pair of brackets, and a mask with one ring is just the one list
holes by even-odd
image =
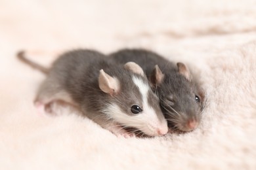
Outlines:
{"label": "dark grey head of the rat without a white stripe", "polygon": [[184,63],[177,63],[178,71],[163,75],[156,65],[150,82],[160,97],[160,105],[168,125],[179,131],[192,131],[200,123],[203,95],[191,81]]}

